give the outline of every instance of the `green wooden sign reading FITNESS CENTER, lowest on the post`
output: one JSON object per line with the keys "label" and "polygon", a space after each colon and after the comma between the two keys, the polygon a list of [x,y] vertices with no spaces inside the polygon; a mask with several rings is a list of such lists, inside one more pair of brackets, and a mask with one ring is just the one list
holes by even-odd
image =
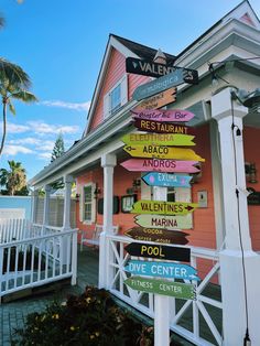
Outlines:
{"label": "green wooden sign reading FITNESS CENTER, lowest on the post", "polygon": [[127,280],[124,280],[124,283],[136,291],[158,293],[184,300],[196,299],[196,289],[193,284],[189,283],[172,282],[159,279],[147,279],[141,277],[128,278]]}

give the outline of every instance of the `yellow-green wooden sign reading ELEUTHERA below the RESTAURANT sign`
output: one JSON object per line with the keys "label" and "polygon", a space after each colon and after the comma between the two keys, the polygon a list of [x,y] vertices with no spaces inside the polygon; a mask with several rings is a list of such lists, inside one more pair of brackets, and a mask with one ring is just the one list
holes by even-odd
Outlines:
{"label": "yellow-green wooden sign reading ELEUTHERA below the RESTAURANT sign", "polygon": [[195,145],[194,136],[188,134],[166,134],[166,133],[129,133],[124,134],[120,140],[128,145],[156,144],[156,145]]}

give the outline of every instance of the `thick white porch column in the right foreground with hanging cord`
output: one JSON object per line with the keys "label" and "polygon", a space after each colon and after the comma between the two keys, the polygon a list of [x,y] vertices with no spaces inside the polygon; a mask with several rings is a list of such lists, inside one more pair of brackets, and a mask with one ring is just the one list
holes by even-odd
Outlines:
{"label": "thick white porch column in the right foreground with hanging cord", "polygon": [[260,279],[256,274],[260,256],[251,248],[242,144],[242,118],[247,109],[231,100],[230,91],[231,88],[226,88],[212,98],[221,158],[225,249],[219,260],[224,340],[227,346],[243,345],[248,314],[252,345],[260,345],[260,300],[257,299]]}

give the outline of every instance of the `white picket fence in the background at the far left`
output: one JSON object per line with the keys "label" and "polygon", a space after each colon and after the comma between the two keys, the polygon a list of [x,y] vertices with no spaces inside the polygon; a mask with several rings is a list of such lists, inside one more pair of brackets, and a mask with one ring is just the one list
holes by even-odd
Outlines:
{"label": "white picket fence in the background at the far left", "polygon": [[0,218],[0,244],[30,238],[31,221],[24,218]]}

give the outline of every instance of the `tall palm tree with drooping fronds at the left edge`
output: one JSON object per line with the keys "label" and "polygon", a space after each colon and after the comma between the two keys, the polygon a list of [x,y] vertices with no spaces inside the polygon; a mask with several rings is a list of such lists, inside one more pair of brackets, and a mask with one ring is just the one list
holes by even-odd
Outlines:
{"label": "tall palm tree with drooping fronds at the left edge", "polygon": [[0,155],[7,136],[7,108],[9,107],[9,110],[15,115],[12,99],[18,99],[24,102],[34,102],[37,100],[36,97],[28,90],[30,86],[30,77],[20,66],[12,64],[4,58],[0,58],[0,95],[3,105],[3,131],[0,144]]}

